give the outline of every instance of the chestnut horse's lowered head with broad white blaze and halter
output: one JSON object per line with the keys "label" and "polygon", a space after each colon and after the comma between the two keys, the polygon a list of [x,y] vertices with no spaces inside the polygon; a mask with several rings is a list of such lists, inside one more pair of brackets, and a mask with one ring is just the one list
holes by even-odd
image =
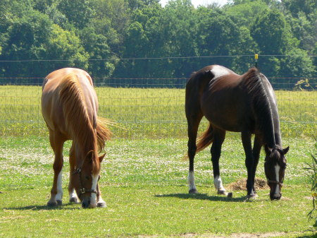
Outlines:
{"label": "chestnut horse's lowered head with broad white blaze and halter", "polygon": [[97,206],[97,183],[100,163],[103,159],[104,155],[98,157],[91,151],[86,155],[82,165],[75,169],[72,184],[82,202],[82,208],[95,208]]}

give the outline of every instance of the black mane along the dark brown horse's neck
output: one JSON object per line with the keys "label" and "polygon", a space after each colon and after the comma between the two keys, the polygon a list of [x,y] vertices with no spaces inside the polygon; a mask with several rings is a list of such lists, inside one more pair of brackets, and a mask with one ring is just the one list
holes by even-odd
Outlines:
{"label": "black mane along the dark brown horse's neck", "polygon": [[[247,93],[251,97],[251,105],[259,121],[259,124],[257,125],[259,126],[258,129],[266,132],[268,132],[268,130],[273,131],[274,135],[273,112],[271,100],[269,98],[270,94],[263,83],[263,78],[265,77],[258,69],[251,68],[247,73],[242,75],[242,78],[243,88],[247,90]],[[274,136],[271,138],[274,138]],[[268,143],[267,138],[266,143]]]}

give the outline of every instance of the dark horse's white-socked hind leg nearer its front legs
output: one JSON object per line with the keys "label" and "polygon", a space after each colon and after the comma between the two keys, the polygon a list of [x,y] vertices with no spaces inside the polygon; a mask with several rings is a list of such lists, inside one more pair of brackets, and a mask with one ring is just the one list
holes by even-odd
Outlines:
{"label": "dark horse's white-socked hind leg nearer its front legs", "polygon": [[223,187],[223,182],[220,178],[219,159],[221,155],[221,146],[225,140],[225,131],[213,131],[213,145],[211,145],[211,162],[213,163],[213,184],[217,189],[218,194],[227,196],[227,191]]}

